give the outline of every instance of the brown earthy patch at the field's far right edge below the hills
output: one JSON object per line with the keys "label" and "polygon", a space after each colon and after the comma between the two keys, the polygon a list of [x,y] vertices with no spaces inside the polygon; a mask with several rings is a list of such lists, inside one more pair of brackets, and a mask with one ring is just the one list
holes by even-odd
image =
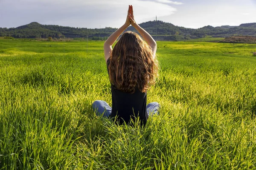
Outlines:
{"label": "brown earthy patch at the field's far right edge below the hills", "polygon": [[256,37],[250,36],[237,36],[237,37],[228,37],[219,42],[225,43],[243,43],[243,44],[256,44]]}

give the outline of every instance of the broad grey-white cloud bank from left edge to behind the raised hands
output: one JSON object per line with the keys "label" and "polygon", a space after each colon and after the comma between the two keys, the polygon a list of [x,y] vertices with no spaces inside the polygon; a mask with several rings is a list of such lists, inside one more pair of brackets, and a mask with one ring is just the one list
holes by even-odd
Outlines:
{"label": "broad grey-white cloud bank from left edge to behind the raised hands", "polygon": [[36,21],[61,26],[118,28],[125,23],[128,5],[134,6],[136,22],[143,23],[154,20],[156,15],[174,14],[177,10],[171,4],[175,3],[169,0],[3,0],[0,16],[5,17],[0,27],[17,27]]}

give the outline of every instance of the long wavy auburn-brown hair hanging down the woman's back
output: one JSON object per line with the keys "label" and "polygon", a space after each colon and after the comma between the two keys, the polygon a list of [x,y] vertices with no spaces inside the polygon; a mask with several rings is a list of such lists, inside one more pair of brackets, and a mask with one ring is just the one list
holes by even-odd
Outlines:
{"label": "long wavy auburn-brown hair hanging down the woman's back", "polygon": [[122,34],[109,60],[110,81],[118,90],[133,94],[137,88],[145,93],[155,83],[157,59],[138,34],[132,31]]}

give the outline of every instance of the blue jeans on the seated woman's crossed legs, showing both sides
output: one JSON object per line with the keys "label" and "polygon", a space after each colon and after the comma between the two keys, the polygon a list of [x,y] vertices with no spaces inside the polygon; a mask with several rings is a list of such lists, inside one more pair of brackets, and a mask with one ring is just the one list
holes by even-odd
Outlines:
{"label": "blue jeans on the seated woman's crossed legs, showing both sides", "polygon": [[[148,116],[152,116],[155,113],[158,114],[158,110],[160,108],[159,103],[152,102],[147,105],[147,113]],[[96,100],[93,102],[93,111],[96,111],[96,115],[102,115],[103,117],[109,117],[111,115],[112,108],[108,105],[107,102],[103,100]]]}

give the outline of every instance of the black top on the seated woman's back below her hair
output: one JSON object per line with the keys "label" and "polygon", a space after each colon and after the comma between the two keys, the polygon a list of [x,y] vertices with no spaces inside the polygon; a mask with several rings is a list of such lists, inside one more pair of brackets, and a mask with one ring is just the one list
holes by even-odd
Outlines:
{"label": "black top on the seated woman's back below her hair", "polygon": [[[107,60],[107,69],[110,60]],[[109,71],[108,71],[109,72]],[[136,89],[135,93],[130,94],[118,90],[111,83],[112,94],[112,112],[111,117],[116,117],[119,124],[124,122],[128,124],[131,119],[139,117],[141,125],[145,125],[148,119],[146,110],[147,93],[143,93]]]}

